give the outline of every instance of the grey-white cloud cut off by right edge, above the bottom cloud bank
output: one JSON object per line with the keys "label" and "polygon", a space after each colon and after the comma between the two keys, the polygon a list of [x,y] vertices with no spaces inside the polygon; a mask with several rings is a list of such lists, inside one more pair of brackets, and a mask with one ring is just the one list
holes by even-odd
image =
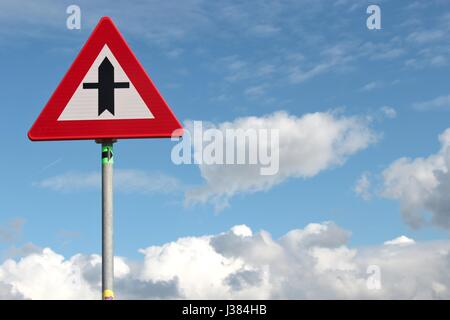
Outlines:
{"label": "grey-white cloud cut off by right edge, above the bottom cloud bank", "polygon": [[431,223],[450,229],[450,129],[439,141],[437,153],[426,158],[400,158],[382,173],[381,194],[400,201],[402,216],[412,227]]}

